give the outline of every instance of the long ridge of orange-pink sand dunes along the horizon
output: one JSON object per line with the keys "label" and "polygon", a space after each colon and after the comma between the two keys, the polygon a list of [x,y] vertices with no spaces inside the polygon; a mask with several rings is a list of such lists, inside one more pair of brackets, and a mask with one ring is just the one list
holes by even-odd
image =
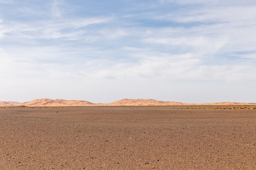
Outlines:
{"label": "long ridge of orange-pink sand dunes along the horizon", "polygon": [[219,102],[203,104],[186,104],[181,102],[164,102],[154,99],[122,99],[108,104],[94,104],[83,100],[35,99],[30,102],[0,102],[0,106],[178,106],[178,105],[243,105],[248,103]]}

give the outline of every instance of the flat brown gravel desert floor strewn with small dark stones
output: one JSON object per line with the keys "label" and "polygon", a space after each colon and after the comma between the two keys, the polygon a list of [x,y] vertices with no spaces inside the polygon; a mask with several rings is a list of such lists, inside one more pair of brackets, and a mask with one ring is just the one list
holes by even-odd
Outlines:
{"label": "flat brown gravel desert floor strewn with small dark stones", "polygon": [[256,170],[256,110],[13,107],[0,128],[0,170]]}

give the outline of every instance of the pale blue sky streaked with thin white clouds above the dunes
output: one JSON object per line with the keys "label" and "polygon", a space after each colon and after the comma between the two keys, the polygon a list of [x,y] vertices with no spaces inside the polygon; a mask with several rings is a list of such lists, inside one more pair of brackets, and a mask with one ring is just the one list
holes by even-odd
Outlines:
{"label": "pale blue sky streaked with thin white clouds above the dunes", "polygon": [[0,0],[0,101],[256,103],[255,0]]}

